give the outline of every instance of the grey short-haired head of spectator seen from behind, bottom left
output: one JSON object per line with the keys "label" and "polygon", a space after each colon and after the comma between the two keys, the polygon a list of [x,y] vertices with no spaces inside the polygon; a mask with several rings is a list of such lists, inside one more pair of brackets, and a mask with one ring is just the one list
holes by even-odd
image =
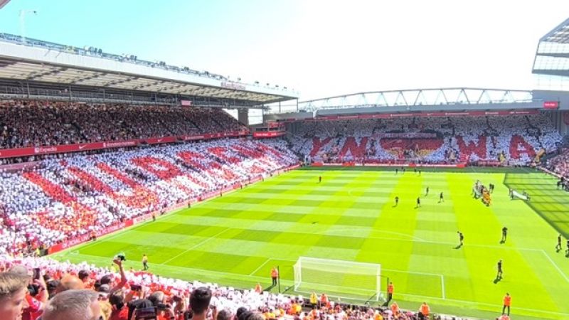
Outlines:
{"label": "grey short-haired head of spectator seen from behind, bottom left", "polygon": [[42,320],[97,320],[102,316],[97,293],[92,290],[68,290],[48,302]]}

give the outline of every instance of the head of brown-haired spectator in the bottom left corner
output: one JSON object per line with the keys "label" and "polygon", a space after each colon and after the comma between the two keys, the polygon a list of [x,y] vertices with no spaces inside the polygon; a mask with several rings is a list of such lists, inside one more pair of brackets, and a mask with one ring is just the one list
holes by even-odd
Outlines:
{"label": "head of brown-haired spectator in the bottom left corner", "polygon": [[0,273],[0,319],[19,320],[22,310],[28,307],[26,302],[27,275],[14,272]]}

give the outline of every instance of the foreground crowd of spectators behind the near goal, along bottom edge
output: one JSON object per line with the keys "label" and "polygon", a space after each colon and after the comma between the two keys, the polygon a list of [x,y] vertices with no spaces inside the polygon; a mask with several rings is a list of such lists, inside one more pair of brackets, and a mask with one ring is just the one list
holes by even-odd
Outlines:
{"label": "foreground crowd of spectators behind the near goal, along bottom edge", "polygon": [[110,269],[86,262],[0,255],[0,319],[415,320],[432,316],[426,304],[417,312],[399,309],[396,302],[389,307],[353,306],[333,302],[326,294],[315,299],[313,293],[305,299],[258,287],[241,290],[124,270],[117,257],[113,263]]}

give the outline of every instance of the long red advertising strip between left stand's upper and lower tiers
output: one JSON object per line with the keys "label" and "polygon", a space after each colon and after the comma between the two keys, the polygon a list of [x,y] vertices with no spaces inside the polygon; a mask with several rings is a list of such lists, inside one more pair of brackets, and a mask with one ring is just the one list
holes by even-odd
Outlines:
{"label": "long red advertising strip between left stand's upper and lower tiers", "polygon": [[176,142],[176,140],[178,139],[184,141],[190,141],[190,140],[202,140],[202,139],[216,139],[224,137],[243,137],[243,136],[248,136],[249,134],[250,132],[248,131],[221,132],[216,134],[201,134],[194,136],[133,139],[133,140],[123,140],[123,141],[94,142],[88,144],[63,144],[60,146],[37,146],[37,147],[18,148],[18,149],[0,149],[0,159],[16,158],[18,156],[35,156],[37,154],[61,154],[64,152],[124,148],[128,146],[138,146],[139,144],[167,144],[167,143]]}

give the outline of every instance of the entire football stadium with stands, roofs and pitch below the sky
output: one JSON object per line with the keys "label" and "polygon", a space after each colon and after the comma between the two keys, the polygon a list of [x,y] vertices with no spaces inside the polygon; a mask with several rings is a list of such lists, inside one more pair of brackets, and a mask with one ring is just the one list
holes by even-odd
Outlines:
{"label": "entire football stadium with stands, roofs and pitch below the sky", "polygon": [[569,90],[306,100],[51,41],[0,33],[1,320],[569,319]]}

